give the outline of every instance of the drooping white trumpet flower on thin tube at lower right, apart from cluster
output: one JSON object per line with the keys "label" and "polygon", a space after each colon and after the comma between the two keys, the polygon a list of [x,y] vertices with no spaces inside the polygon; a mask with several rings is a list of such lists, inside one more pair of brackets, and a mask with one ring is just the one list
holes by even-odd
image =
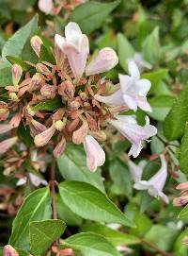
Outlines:
{"label": "drooping white trumpet flower on thin tube at lower right, apart from cluster", "polygon": [[148,190],[150,196],[160,197],[165,203],[168,203],[169,199],[163,193],[165,180],[167,178],[167,163],[164,159],[164,155],[161,155],[160,159],[162,166],[159,171],[148,181],[140,180],[135,183],[133,187],[137,190]]}

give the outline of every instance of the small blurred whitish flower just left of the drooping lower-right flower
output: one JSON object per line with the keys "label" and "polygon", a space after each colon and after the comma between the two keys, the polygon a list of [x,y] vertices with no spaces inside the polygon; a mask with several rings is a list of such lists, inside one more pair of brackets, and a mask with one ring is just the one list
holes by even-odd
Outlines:
{"label": "small blurred whitish flower just left of the drooping lower-right flower", "polygon": [[138,164],[135,164],[133,161],[129,160],[127,164],[129,166],[129,171],[131,173],[133,181],[134,182],[140,181],[140,179],[142,178],[143,170],[147,162],[143,160],[143,161],[140,161]]}

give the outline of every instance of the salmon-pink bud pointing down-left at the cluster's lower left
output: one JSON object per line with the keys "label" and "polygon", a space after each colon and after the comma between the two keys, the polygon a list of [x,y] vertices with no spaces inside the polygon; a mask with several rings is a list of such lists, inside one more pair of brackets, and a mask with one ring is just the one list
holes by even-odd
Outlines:
{"label": "salmon-pink bud pointing down-left at the cluster's lower left", "polygon": [[39,133],[35,136],[34,142],[37,146],[47,145],[50,139],[55,134],[55,126],[52,125],[50,128],[47,128],[43,132]]}

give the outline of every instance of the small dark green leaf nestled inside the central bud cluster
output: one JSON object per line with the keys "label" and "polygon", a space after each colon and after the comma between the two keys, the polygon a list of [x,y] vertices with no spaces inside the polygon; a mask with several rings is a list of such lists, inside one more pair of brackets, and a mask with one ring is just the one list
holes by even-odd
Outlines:
{"label": "small dark green leaf nestled inside the central bud cluster", "polygon": [[63,106],[61,98],[56,96],[53,99],[46,100],[44,102],[40,102],[38,105],[34,107],[36,111],[55,111],[58,108]]}

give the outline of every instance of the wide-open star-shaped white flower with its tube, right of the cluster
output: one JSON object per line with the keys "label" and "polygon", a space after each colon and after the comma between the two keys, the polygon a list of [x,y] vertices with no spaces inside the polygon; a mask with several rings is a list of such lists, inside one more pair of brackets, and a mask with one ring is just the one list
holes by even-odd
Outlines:
{"label": "wide-open star-shaped white flower with its tube, right of the cluster", "polygon": [[130,76],[118,76],[120,89],[115,94],[95,95],[95,98],[112,106],[126,105],[133,111],[137,111],[137,107],[143,111],[151,111],[146,97],[151,86],[150,81],[140,79],[140,72],[133,60],[129,61],[128,69]]}

